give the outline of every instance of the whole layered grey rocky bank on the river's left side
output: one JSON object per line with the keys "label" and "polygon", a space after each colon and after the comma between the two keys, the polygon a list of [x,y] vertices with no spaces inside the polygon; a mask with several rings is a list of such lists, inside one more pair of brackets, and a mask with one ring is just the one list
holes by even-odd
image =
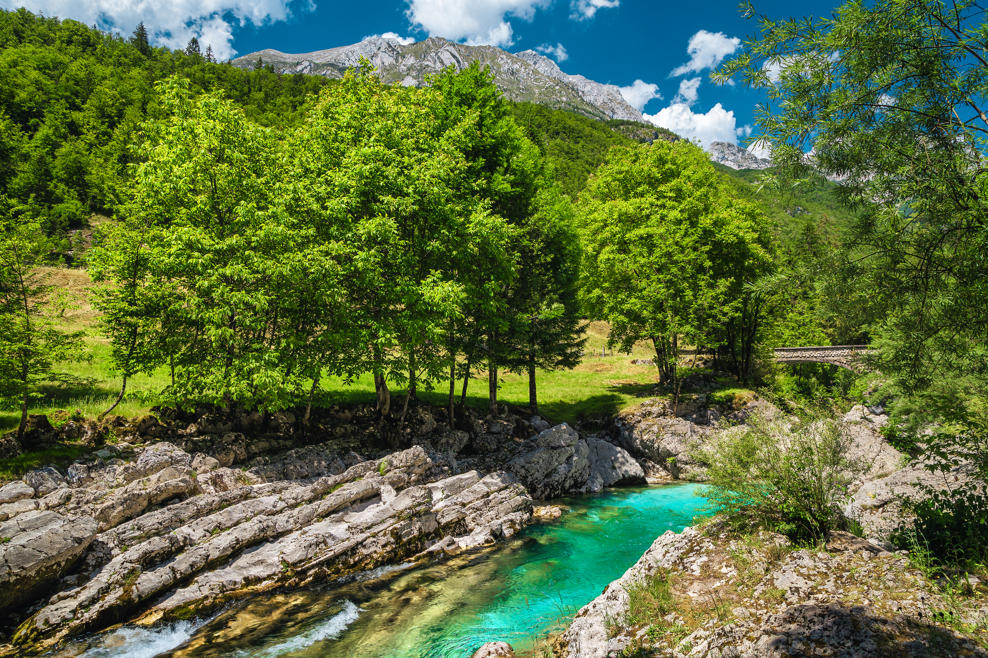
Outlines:
{"label": "whole layered grey rocky bank on the river's left side", "polygon": [[6,652],[491,545],[534,499],[644,482],[627,452],[568,425],[505,414],[451,431],[433,411],[414,410],[411,448],[372,457],[345,452],[373,445],[359,410],[334,411],[348,427],[315,445],[285,412],[136,419],[129,441],[0,487],[0,614],[19,622]]}

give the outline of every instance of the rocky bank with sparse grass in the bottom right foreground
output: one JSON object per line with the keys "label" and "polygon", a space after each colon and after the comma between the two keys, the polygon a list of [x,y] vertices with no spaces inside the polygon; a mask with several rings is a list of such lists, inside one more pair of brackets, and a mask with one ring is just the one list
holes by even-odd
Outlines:
{"label": "rocky bank with sparse grass in the bottom right foreground", "polygon": [[557,657],[988,656],[988,588],[929,580],[846,533],[795,550],[719,523],[660,535],[557,639]]}

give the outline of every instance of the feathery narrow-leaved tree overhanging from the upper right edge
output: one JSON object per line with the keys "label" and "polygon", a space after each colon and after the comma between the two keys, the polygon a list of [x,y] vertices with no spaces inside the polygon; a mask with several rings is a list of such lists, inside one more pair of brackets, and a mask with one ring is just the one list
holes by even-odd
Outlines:
{"label": "feathery narrow-leaved tree overhanging from the upper right edge", "polygon": [[757,117],[778,164],[768,184],[840,177],[836,194],[858,210],[845,248],[822,273],[828,310],[856,316],[880,338],[872,364],[902,393],[967,375],[984,391],[981,7],[847,2],[832,18],[761,17],[760,33],[715,77],[740,78],[769,99]]}

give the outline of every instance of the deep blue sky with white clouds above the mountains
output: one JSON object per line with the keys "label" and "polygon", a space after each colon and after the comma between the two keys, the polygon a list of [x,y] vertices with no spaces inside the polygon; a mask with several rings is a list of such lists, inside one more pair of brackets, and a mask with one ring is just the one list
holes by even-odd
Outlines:
{"label": "deep blue sky with white clouds above the mountains", "polygon": [[[158,44],[179,47],[196,36],[223,56],[309,52],[385,33],[511,52],[542,48],[563,71],[624,88],[653,123],[704,143],[743,143],[762,100],[742,85],[707,79],[708,64],[755,33],[736,0],[0,0],[6,8],[21,5],[124,34],[143,21]],[[755,9],[787,18],[829,16],[835,6],[773,0]]]}

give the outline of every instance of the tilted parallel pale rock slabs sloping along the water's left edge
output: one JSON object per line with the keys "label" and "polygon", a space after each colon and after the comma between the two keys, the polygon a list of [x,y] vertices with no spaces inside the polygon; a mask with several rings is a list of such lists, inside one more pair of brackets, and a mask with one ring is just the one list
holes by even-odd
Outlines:
{"label": "tilted parallel pale rock slabs sloping along the water's left edge", "polygon": [[[100,517],[101,528],[109,525],[108,515],[119,516],[120,506],[138,493],[131,490],[134,485],[147,481],[142,490],[154,491],[189,480],[182,474],[182,464],[192,461],[188,453],[166,448],[137,463],[143,472],[153,469],[146,464],[157,467],[166,460],[178,465],[118,487],[113,500],[98,507],[109,509]],[[230,469],[200,478],[224,470]],[[95,568],[82,586],[52,597],[22,624],[14,641],[47,646],[155,602],[152,618],[184,616],[219,597],[300,585],[434,547],[455,552],[487,545],[518,532],[531,517],[532,499],[509,473],[481,477],[470,471],[430,480],[436,472],[442,469],[416,447],[360,461],[339,474],[246,484],[139,515],[98,536],[109,562]],[[96,521],[90,519],[89,526],[91,538]]]}

